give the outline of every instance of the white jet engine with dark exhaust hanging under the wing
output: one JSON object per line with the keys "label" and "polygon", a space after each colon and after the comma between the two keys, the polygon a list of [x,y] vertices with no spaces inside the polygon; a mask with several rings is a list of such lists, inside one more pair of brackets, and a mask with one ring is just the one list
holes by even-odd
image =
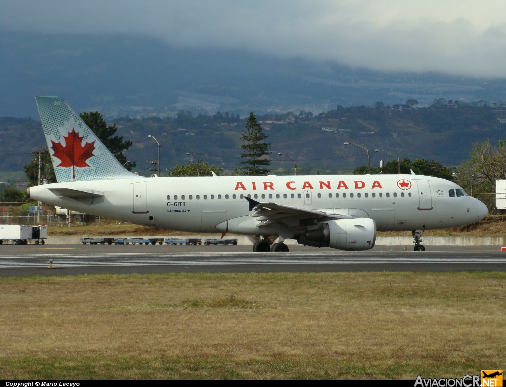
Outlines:
{"label": "white jet engine with dark exhaust hanging under the wing", "polygon": [[376,224],[372,219],[340,219],[319,223],[318,228],[299,235],[299,243],[333,247],[340,250],[368,250],[376,240]]}

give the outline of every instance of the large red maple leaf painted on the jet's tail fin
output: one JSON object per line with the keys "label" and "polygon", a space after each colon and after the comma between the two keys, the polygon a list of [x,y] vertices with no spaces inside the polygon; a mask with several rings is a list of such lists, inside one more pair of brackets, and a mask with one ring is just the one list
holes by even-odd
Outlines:
{"label": "large red maple leaf painted on the jet's tail fin", "polygon": [[67,137],[63,137],[65,145],[61,143],[51,142],[53,145],[53,156],[60,159],[60,163],[57,166],[72,167],[72,179],[75,179],[74,167],[91,166],[87,163],[88,159],[93,157],[93,151],[95,150],[95,141],[92,143],[86,143],[84,146],[81,145],[82,137],[74,131],[68,133]]}

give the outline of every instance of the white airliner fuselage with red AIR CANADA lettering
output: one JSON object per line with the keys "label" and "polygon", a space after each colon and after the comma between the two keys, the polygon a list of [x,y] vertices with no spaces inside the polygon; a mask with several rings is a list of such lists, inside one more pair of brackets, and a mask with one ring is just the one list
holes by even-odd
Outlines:
{"label": "white airliner fuselage with red AIR CANADA lettering", "polygon": [[[51,190],[54,191],[51,191]],[[60,191],[58,191],[60,189]],[[101,192],[63,196],[61,189]],[[377,231],[458,227],[486,216],[479,200],[456,184],[415,175],[140,178],[55,183],[31,187],[29,196],[97,216],[161,229],[274,235],[258,226],[248,196],[303,210],[370,218]]]}

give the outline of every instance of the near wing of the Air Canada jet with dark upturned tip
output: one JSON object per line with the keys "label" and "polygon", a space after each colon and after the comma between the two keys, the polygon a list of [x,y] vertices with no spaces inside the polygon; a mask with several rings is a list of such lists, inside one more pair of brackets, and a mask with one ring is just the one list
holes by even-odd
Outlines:
{"label": "near wing of the Air Canada jet with dark upturned tip", "polygon": [[339,214],[325,212],[317,209],[305,209],[290,205],[278,203],[261,203],[249,197],[245,197],[249,203],[249,210],[255,212],[250,214],[250,218],[257,218],[258,226],[269,226],[272,224],[284,224],[292,226],[306,219],[352,219],[355,218],[349,214]]}

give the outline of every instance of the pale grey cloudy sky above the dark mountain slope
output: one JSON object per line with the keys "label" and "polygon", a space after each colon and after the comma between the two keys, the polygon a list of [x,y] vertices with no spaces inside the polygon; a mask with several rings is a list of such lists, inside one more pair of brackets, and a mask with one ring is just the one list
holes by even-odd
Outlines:
{"label": "pale grey cloudy sky above the dark mountain slope", "polygon": [[506,77],[503,0],[0,0],[0,30],[128,33],[182,48]]}

